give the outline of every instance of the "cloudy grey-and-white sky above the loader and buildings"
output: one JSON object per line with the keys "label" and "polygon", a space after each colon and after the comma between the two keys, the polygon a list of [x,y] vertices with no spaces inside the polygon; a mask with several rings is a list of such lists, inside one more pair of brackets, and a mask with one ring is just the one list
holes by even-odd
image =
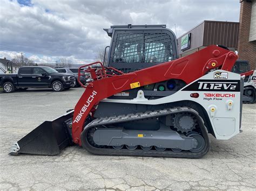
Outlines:
{"label": "cloudy grey-and-white sky above the loader and buildings", "polygon": [[[203,20],[238,21],[237,0],[62,1],[32,0],[32,6],[1,1],[0,51],[25,52],[38,62],[95,59],[109,45],[110,25],[167,24],[178,36]],[[2,54],[1,54],[2,55]],[[0,56],[1,56],[0,55]]]}

